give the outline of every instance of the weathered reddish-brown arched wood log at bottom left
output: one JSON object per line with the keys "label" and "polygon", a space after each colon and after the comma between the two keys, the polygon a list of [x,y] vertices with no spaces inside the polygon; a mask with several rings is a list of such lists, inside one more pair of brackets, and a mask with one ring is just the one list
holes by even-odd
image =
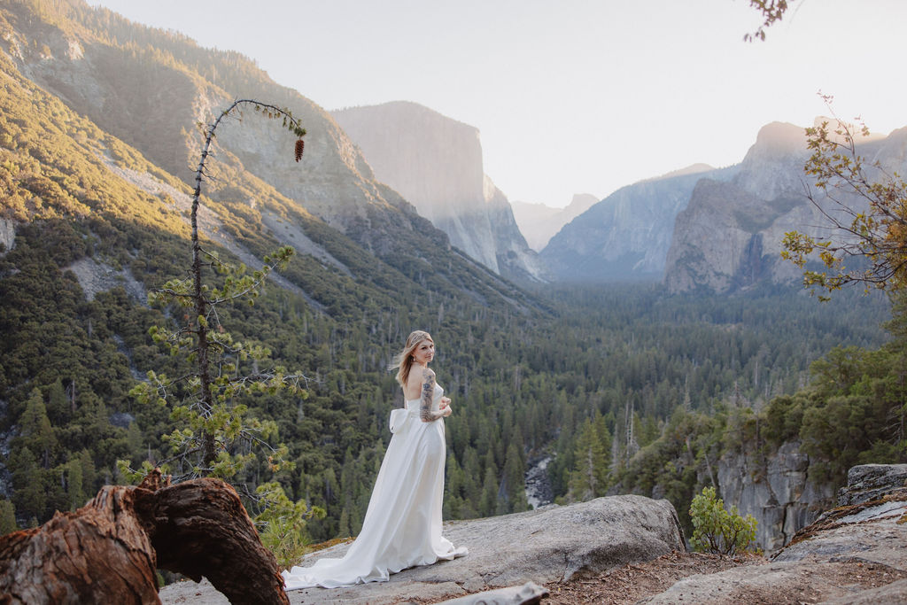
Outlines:
{"label": "weathered reddish-brown arched wood log at bottom left", "polygon": [[277,561],[232,487],[170,486],[155,472],[0,537],[0,604],[160,603],[158,568],[204,576],[232,603],[289,603]]}

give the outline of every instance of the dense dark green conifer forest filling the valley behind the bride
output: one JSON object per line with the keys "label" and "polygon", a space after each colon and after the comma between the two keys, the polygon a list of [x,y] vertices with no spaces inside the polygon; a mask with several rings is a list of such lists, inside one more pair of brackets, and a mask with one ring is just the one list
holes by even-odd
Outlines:
{"label": "dense dark green conifer forest filling the valley behind the bride", "polygon": [[[0,396],[13,435],[5,510],[20,526],[122,482],[118,459],[138,466],[168,454],[167,410],[139,405],[129,391],[143,372],[179,372],[185,360],[148,334],[167,322],[161,309],[122,288],[86,299],[65,270],[98,247],[84,236],[70,223],[36,221],[0,261]],[[879,348],[883,300],[847,293],[821,304],[791,289],[736,297],[668,297],[656,285],[546,290],[547,298],[527,295],[539,300],[527,314],[439,295],[409,317],[368,305],[331,316],[278,288],[255,307],[230,309],[222,321],[234,333],[311,377],[305,398],[249,396],[256,415],[278,423],[296,466],[272,476],[258,460],[241,482],[252,493],[276,479],[291,497],[324,508],[324,519],[308,522],[308,540],[355,535],[390,437],[387,415],[402,403],[385,368],[415,326],[438,343],[438,380],[456,411],[446,423],[445,518],[525,510],[527,466],[546,455],[559,502],[650,494],[660,484],[672,486],[666,496],[684,511],[701,489],[695,468],[672,473],[667,464],[684,440],[717,460],[740,432],[756,443],[756,418],[764,447],[803,439],[830,481],[847,464],[902,458],[890,362],[902,355],[903,335],[895,329]],[[846,421],[836,432],[826,426],[830,411]],[[841,439],[856,431],[860,439]],[[841,452],[842,443],[853,450]]]}

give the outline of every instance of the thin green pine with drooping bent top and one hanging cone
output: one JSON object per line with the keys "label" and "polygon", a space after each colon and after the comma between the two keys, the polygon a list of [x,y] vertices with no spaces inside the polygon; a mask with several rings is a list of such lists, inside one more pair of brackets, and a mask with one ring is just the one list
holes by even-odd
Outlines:
{"label": "thin green pine with drooping bent top and one hanging cone", "polygon": [[[151,336],[169,348],[172,356],[187,356],[194,371],[173,380],[149,372],[148,381],[132,389],[132,394],[145,403],[157,401],[171,406],[171,421],[176,428],[171,434],[164,435],[172,453],[164,464],[178,464],[178,479],[190,476],[229,479],[255,459],[249,444],[268,450],[271,470],[277,470],[287,453],[286,447],[268,444],[269,439],[277,436],[277,424],[248,415],[248,407],[236,403],[236,397],[244,393],[273,394],[284,387],[300,396],[305,395],[298,389],[304,376],[288,374],[282,366],[263,369],[261,366],[267,363],[270,355],[268,348],[234,341],[220,324],[217,311],[220,305],[243,298],[253,303],[270,270],[286,267],[293,249],[288,246],[278,249],[265,257],[262,268],[248,274],[244,266],[233,267],[222,262],[216,254],[201,246],[198,213],[211,144],[221,120],[239,113],[244,105],[253,106],[256,112],[264,112],[268,118],[282,119],[284,126],[297,137],[306,133],[288,110],[249,99],[233,102],[205,129],[190,212],[190,277],[171,279],[149,295],[152,304],[173,303],[185,309],[183,314],[188,323],[175,332],[152,327]],[[301,141],[301,138],[297,140],[297,161],[302,154]],[[213,268],[219,274],[219,285],[204,283],[204,268]],[[251,374],[240,374],[240,366],[244,363],[251,369]],[[126,472],[128,464],[121,466]],[[131,476],[137,474],[143,473],[132,473]]]}

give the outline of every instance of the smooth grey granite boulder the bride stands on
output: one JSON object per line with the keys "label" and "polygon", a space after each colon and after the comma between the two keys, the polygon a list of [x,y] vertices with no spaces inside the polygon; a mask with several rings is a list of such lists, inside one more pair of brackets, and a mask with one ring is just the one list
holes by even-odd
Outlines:
{"label": "smooth grey granite boulder the bride stands on", "polygon": [[[469,548],[461,559],[401,571],[385,583],[333,590],[292,590],[291,603],[392,603],[441,600],[526,581],[569,580],[631,561],[685,550],[677,512],[667,500],[611,496],[474,521],[449,522],[444,535]],[[348,544],[309,555],[339,557]],[[303,561],[303,565],[306,561]],[[164,603],[225,603],[210,588],[183,582],[161,590]]]}

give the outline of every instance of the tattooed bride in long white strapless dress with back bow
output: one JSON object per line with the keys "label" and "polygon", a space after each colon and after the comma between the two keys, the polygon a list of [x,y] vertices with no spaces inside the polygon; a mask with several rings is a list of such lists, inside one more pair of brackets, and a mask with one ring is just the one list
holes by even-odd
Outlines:
{"label": "tattooed bride in long white strapless dress with back bow", "polygon": [[320,559],[311,567],[284,571],[287,590],[336,588],[387,581],[391,573],[466,554],[441,535],[444,494],[444,420],[451,400],[434,382],[428,364],[434,340],[422,330],[406,338],[395,363],[405,407],[391,414],[391,443],[368,501],[366,519],[342,559]]}

